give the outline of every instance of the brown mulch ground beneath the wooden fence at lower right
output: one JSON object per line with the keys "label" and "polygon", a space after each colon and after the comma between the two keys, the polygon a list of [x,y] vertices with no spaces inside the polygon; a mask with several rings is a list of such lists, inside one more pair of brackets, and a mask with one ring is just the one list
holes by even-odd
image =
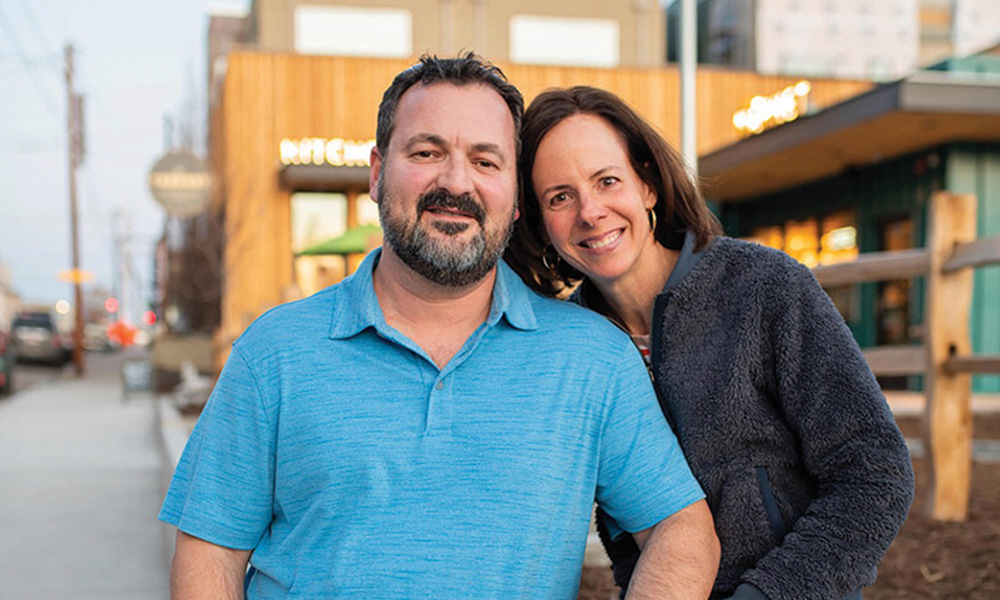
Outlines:
{"label": "brown mulch ground beneath the wooden fence at lower right", "polygon": [[[919,439],[919,417],[900,417],[900,429]],[[1000,440],[1000,414],[977,414],[973,437]],[[927,473],[914,459],[917,496],[899,537],[879,564],[878,581],[865,600],[997,600],[1000,598],[1000,463],[973,463],[969,518],[964,523],[932,521]],[[579,600],[617,598],[609,569],[585,567]]]}

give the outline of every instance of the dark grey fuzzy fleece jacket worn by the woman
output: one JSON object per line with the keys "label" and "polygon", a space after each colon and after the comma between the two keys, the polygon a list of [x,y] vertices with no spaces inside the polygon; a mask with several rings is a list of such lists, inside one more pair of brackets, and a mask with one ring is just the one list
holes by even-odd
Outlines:
{"label": "dark grey fuzzy fleece jacket worn by the woman", "polygon": [[[841,600],[873,583],[909,512],[912,464],[812,272],[718,238],[657,297],[653,325],[661,407],[722,543],[712,597]],[[624,588],[638,549],[602,533]]]}

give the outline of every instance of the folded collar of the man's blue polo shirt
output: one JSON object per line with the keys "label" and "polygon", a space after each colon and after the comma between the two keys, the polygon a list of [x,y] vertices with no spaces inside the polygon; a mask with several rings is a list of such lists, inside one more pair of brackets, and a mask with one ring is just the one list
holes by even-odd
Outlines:
{"label": "folded collar of the man's blue polo shirt", "polygon": [[[373,250],[358,266],[358,270],[333,290],[331,338],[349,338],[369,327],[377,331],[387,329],[385,315],[379,306],[378,297],[375,296],[373,281],[375,265],[381,256],[381,248]],[[497,263],[493,300],[486,325],[493,327],[501,317],[506,317],[507,323],[516,329],[538,328],[531,303],[531,291],[503,260]]]}

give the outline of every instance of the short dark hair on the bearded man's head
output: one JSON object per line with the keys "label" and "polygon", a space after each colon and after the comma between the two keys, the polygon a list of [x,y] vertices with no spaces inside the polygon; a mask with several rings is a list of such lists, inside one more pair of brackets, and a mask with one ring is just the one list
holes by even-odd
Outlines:
{"label": "short dark hair on the bearded man's head", "polygon": [[383,157],[389,148],[392,132],[396,126],[396,107],[406,90],[422,83],[451,83],[454,85],[470,85],[481,83],[497,91],[510,109],[514,119],[514,149],[521,152],[521,119],[524,116],[524,98],[517,88],[507,81],[507,77],[499,67],[490,64],[475,52],[469,52],[458,58],[438,58],[424,54],[419,62],[403,71],[392,80],[392,85],[382,94],[382,102],[378,106],[378,126],[375,130],[375,144]]}

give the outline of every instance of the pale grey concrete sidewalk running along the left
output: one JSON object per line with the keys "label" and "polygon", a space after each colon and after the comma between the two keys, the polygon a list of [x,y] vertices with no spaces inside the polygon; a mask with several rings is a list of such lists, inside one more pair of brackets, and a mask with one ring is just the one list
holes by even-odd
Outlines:
{"label": "pale grey concrete sidewalk running along the left", "polygon": [[151,397],[122,402],[122,358],[0,402],[4,600],[168,597],[159,431]]}

